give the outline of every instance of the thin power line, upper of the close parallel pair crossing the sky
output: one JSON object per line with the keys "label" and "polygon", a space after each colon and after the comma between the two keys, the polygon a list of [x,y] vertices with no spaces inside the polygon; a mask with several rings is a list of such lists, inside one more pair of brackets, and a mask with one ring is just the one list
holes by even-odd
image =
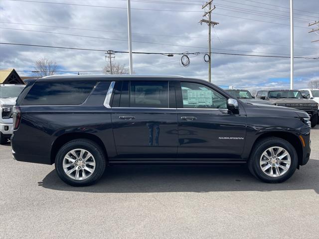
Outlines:
{"label": "thin power line, upper of the close parallel pair crossing the sky", "polygon": [[[75,30],[101,31],[101,32],[113,32],[113,33],[127,34],[127,32],[123,32],[123,31],[110,31],[110,30],[100,30],[100,29],[86,29],[86,28],[76,28],[76,27],[67,27],[67,26],[56,26],[56,25],[40,25],[40,24],[30,24],[30,23],[21,23],[21,22],[7,22],[7,21],[0,21],[0,23],[18,24],[18,25],[31,25],[31,26],[44,26],[44,27],[55,27],[55,28],[75,29]],[[207,37],[199,37],[199,36],[160,35],[160,34],[150,34],[150,33],[132,33],[132,34],[134,34],[134,35],[164,36],[164,37],[197,38],[197,39],[206,39],[206,38],[207,38]],[[212,39],[219,40],[219,38],[212,38]],[[290,46],[290,45],[282,45],[282,44],[262,43],[262,42],[254,42],[254,41],[230,40],[230,39],[222,39],[222,38],[220,38],[220,40],[224,40],[224,41],[234,41],[234,42],[244,42],[244,43],[255,43],[255,44],[263,44],[263,45]],[[304,47],[304,46],[294,46],[294,47],[307,48],[307,49],[317,49],[317,48],[315,48],[315,47]]]}

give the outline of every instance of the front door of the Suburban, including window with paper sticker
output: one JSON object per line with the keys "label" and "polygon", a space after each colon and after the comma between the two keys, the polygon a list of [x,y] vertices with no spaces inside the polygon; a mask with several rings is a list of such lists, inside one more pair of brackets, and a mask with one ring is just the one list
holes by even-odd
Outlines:
{"label": "front door of the Suburban, including window with paper sticker", "polygon": [[[220,90],[219,90],[220,91]],[[176,89],[178,158],[239,159],[246,137],[246,115],[227,109],[227,96],[209,84],[181,82]]]}

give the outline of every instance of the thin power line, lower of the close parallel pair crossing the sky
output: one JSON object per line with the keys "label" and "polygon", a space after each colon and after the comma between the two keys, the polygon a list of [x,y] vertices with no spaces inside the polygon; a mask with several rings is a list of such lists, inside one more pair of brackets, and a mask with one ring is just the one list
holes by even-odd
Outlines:
{"label": "thin power line, lower of the close parallel pair crossing the sky", "polygon": [[[28,30],[28,29],[8,28],[8,27],[0,27],[0,29],[18,30],[18,31],[31,31],[31,32],[41,32],[41,33],[50,33],[50,34],[59,34],[59,35],[69,35],[69,36],[81,36],[81,37],[88,37],[88,38],[95,38],[95,39],[128,41],[128,40],[126,40],[126,39],[106,38],[106,37],[98,37],[98,36],[87,36],[87,35],[78,35],[78,34],[69,34],[69,33],[53,32],[53,31]],[[147,43],[147,44],[156,44],[156,45],[168,45],[168,46],[178,46],[178,47],[190,47],[190,48],[206,49],[206,47],[201,47],[201,46],[177,45],[177,44],[168,44],[168,43],[160,43],[160,42],[150,42],[150,41],[136,41],[136,40],[132,40],[132,42]],[[260,52],[260,51],[233,50],[233,49],[222,49],[222,48],[211,48],[211,49],[214,49],[214,50],[225,50],[225,51],[254,52],[254,53],[262,53],[262,54],[289,55],[289,54],[285,54],[285,53],[271,53],[271,52]],[[301,55],[299,55],[299,56],[301,56]]]}

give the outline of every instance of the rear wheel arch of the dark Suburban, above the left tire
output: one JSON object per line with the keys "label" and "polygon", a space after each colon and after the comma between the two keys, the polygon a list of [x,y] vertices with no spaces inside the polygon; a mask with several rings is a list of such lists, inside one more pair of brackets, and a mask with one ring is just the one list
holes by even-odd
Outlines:
{"label": "rear wheel arch of the dark Suburban, above the left tire", "polygon": [[75,132],[75,133],[67,133],[67,134],[60,135],[59,137],[57,137],[54,140],[54,142],[52,144],[52,148],[51,148],[51,154],[50,154],[51,164],[54,164],[55,156],[56,156],[57,152],[59,151],[59,149],[64,144],[66,144],[67,142],[74,140],[74,139],[88,139],[88,140],[95,142],[103,150],[103,153],[105,155],[105,159],[106,160],[108,159],[108,154],[107,154],[105,145],[104,145],[103,141],[98,136],[93,135],[93,134],[89,134],[89,133]]}

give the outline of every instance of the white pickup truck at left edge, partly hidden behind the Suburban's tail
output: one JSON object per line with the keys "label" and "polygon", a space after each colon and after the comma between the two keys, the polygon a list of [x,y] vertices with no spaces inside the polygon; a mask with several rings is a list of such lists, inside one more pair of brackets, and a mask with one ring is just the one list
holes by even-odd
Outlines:
{"label": "white pickup truck at left edge, partly hidden behind the Suburban's tail", "polygon": [[0,144],[5,144],[12,135],[12,108],[25,85],[0,84]]}

